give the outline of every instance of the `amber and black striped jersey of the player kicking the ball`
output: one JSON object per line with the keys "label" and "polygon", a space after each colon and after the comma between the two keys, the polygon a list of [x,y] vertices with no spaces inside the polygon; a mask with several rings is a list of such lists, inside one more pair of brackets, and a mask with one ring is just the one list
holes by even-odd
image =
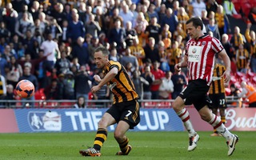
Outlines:
{"label": "amber and black striped jersey of the player kicking the ball", "polygon": [[127,74],[125,67],[119,62],[108,62],[106,64],[106,70],[103,70],[103,74],[106,75],[114,67],[118,68],[118,74],[107,83],[114,95],[113,103],[131,101],[138,98],[134,83]]}

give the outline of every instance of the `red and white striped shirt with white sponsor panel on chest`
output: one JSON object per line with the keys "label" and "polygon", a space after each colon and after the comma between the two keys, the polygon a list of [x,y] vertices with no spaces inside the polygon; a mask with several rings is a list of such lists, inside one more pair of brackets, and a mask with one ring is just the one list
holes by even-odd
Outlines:
{"label": "red and white striped shirt with white sponsor panel on chest", "polygon": [[203,35],[198,40],[190,39],[186,43],[189,80],[205,79],[210,86],[214,71],[214,55],[222,50],[222,43],[209,35]]}

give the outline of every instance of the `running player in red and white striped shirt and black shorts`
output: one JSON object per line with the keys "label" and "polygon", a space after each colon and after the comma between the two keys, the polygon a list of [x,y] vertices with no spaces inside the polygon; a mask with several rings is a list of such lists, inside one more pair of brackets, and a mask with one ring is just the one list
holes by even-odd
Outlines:
{"label": "running player in red and white striped shirt and black shorts", "polygon": [[207,95],[213,78],[215,54],[222,58],[226,66],[226,71],[222,75],[226,84],[230,82],[230,58],[222,43],[217,38],[203,34],[202,27],[201,18],[190,18],[186,22],[186,30],[190,35],[190,40],[186,43],[186,54],[182,62],[176,64],[174,68],[179,72],[181,67],[187,67],[189,82],[175,99],[173,108],[189,132],[189,151],[197,147],[199,140],[199,135],[190,122],[190,114],[185,108],[186,105],[193,104],[201,118],[213,126],[223,138],[226,138],[226,144],[229,147],[227,155],[230,156],[234,152],[238,136],[231,134],[221,119],[211,112],[208,107],[211,101]]}

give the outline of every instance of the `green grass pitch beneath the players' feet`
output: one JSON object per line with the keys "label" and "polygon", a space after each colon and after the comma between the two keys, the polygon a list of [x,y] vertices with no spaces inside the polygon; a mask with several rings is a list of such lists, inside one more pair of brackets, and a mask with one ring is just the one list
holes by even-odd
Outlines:
{"label": "green grass pitch beneath the players' feet", "polygon": [[[255,159],[256,132],[234,132],[240,140],[230,157],[226,155],[225,138],[210,137],[211,132],[198,134],[200,141],[197,149],[188,152],[186,132],[128,132],[133,150],[128,156],[116,156],[118,143],[114,140],[113,132],[110,132],[100,159]],[[82,157],[78,150],[92,146],[94,136],[94,132],[0,134],[0,159],[93,159]]]}

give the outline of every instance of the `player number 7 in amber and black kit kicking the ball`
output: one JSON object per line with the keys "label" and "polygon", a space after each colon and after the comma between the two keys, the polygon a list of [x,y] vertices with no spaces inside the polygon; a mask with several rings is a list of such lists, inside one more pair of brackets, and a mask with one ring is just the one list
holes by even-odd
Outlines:
{"label": "player number 7 in amber and black kit kicking the ball", "polygon": [[126,131],[134,129],[134,126],[140,122],[138,94],[124,66],[119,62],[110,61],[109,52],[105,47],[100,46],[94,51],[94,60],[105,76],[101,79],[97,74],[94,75],[98,85],[93,86],[91,92],[94,94],[107,84],[114,95],[114,102],[113,106],[103,114],[102,119],[98,122],[94,146],[86,150],[79,150],[79,153],[82,156],[101,156],[100,150],[107,138],[106,129],[117,123],[114,138],[119,144],[120,151],[116,155],[127,155],[132,147],[128,144],[129,139],[126,137]]}

